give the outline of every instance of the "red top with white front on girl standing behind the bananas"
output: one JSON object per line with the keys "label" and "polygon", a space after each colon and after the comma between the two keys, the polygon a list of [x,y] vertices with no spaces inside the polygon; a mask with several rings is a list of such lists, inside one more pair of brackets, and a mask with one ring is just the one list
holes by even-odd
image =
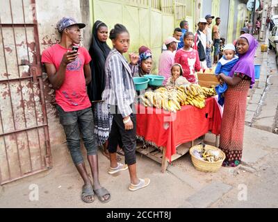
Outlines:
{"label": "red top with white front on girl standing behind the bananas", "polygon": [[174,56],[174,62],[179,63],[183,67],[183,77],[185,77],[190,83],[197,82],[195,71],[201,69],[198,51],[195,49],[190,51],[179,49],[176,56]]}

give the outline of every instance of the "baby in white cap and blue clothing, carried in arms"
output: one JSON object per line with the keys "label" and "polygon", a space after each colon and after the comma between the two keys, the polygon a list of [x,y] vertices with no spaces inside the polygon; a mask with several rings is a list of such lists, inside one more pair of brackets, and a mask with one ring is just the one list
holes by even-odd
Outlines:
{"label": "baby in white cap and blue clothing, carried in arms", "polygon": [[[223,49],[224,55],[218,61],[218,65],[215,69],[215,74],[224,74],[225,76],[229,76],[229,72],[238,62],[238,56],[236,56],[236,48],[234,44],[227,44]],[[217,85],[215,87],[215,91],[218,93],[218,103],[220,105],[224,105],[224,92],[226,92],[228,88],[227,83],[223,83],[223,85]]]}

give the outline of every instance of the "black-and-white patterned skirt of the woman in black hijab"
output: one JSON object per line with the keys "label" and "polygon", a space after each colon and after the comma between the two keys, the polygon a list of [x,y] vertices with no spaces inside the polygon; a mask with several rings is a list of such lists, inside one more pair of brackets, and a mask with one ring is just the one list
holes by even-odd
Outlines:
{"label": "black-and-white patterned skirt of the woman in black hijab", "polygon": [[95,102],[92,104],[94,114],[94,135],[97,146],[104,144],[109,137],[113,115],[110,113],[110,106],[107,103]]}

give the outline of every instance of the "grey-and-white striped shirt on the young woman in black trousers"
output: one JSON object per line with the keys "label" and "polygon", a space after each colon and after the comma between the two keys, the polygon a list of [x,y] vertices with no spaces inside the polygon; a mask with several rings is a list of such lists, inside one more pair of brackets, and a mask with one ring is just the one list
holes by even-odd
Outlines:
{"label": "grey-and-white striped shirt on the young woman in black trousers", "polygon": [[106,87],[102,99],[110,105],[117,105],[122,117],[132,113],[130,105],[136,96],[133,76],[137,72],[138,65],[129,65],[117,49],[111,50],[105,64]]}

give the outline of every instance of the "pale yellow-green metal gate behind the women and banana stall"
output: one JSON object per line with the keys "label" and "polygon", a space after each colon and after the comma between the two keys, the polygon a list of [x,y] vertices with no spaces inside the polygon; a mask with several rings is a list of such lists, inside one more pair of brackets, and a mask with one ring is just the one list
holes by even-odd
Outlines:
{"label": "pale yellow-green metal gate behind the women and banana stall", "polygon": [[[152,49],[154,73],[158,71],[163,41],[172,35],[181,19],[186,18],[193,27],[192,0],[94,0],[91,6],[93,22],[99,19],[109,30],[117,23],[126,26],[131,35],[130,51],[137,52],[142,45]],[[110,41],[108,44],[111,46]]]}

